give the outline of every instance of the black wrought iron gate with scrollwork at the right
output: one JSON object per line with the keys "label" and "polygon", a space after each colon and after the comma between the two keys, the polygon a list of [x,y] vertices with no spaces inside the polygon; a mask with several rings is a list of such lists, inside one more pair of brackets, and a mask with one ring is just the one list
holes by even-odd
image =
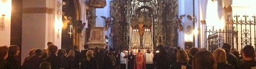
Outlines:
{"label": "black wrought iron gate with scrollwork at the right", "polygon": [[212,26],[206,27],[205,47],[209,51],[214,51],[216,48],[221,48],[223,43],[232,44],[233,48],[238,50],[243,46],[253,45],[256,48],[256,16],[249,17],[248,15],[235,15],[233,19],[226,20],[226,26],[223,29],[216,30]]}

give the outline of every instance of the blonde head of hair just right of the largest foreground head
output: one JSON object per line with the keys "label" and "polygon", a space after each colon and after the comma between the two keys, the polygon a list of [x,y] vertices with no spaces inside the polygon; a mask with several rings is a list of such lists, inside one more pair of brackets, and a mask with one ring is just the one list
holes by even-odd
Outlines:
{"label": "blonde head of hair just right of the largest foreground head", "polygon": [[226,51],[224,49],[216,49],[213,52],[213,56],[216,59],[216,62],[219,63],[227,63],[227,56],[226,56]]}

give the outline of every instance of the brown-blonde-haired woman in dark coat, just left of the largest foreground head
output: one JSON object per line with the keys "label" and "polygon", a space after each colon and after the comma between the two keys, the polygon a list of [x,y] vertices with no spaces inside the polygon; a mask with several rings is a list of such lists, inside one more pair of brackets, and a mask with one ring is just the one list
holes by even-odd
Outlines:
{"label": "brown-blonde-haired woman in dark coat, just left of the largest foreground head", "polygon": [[186,67],[186,69],[192,69],[192,66],[188,64],[189,56],[187,52],[180,49],[177,52],[177,62],[171,65],[171,69],[182,69],[181,67]]}

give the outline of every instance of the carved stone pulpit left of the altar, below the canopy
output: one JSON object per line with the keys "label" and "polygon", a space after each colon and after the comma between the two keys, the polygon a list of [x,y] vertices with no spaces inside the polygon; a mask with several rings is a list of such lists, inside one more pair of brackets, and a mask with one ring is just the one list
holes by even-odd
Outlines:
{"label": "carved stone pulpit left of the altar, below the canopy", "polygon": [[89,49],[98,47],[99,49],[106,49],[107,43],[105,42],[104,28],[92,27],[90,28]]}

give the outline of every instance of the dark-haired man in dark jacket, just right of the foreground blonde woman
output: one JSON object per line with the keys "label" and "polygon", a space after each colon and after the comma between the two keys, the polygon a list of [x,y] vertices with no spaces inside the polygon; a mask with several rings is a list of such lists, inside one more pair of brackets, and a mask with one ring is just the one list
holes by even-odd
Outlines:
{"label": "dark-haired man in dark jacket, just right of the foreground blonde woman", "polygon": [[224,43],[222,46],[223,49],[225,49],[226,53],[227,53],[227,61],[229,64],[232,64],[234,67],[238,67],[238,59],[236,58],[236,56],[234,54],[232,54],[230,52],[231,49],[231,44],[229,43]]}

